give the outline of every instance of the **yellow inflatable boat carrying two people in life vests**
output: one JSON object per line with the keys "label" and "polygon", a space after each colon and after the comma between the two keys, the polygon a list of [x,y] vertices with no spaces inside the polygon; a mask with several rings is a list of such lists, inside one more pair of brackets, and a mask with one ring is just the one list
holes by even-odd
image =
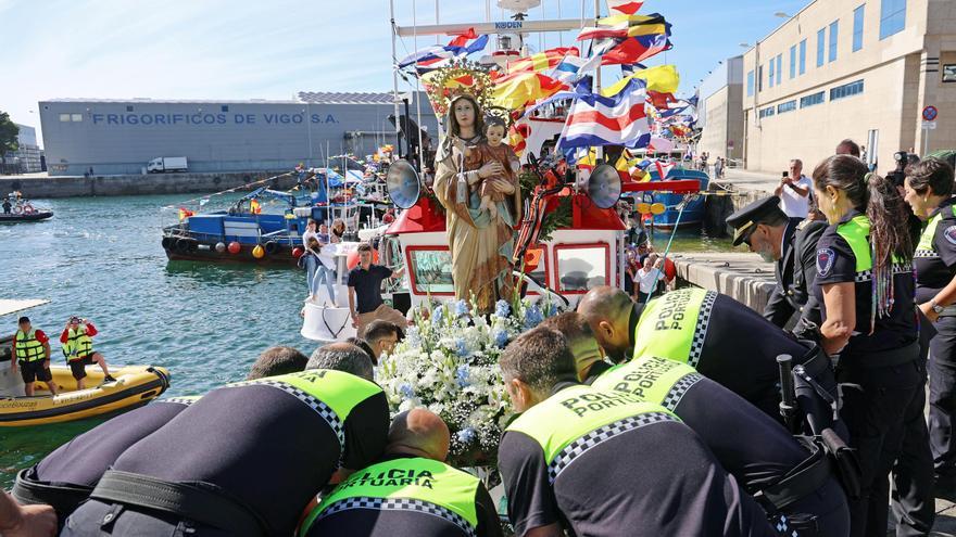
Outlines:
{"label": "yellow inflatable boat carrying two people in life vests", "polygon": [[[49,301],[0,299],[0,316],[33,308]],[[169,372],[153,366],[126,366],[111,372],[115,381],[103,382],[103,373],[90,368],[86,382],[91,386],[75,389],[70,367],[50,367],[58,395],[35,384],[35,395],[24,395],[20,371],[12,370],[13,336],[0,337],[0,427],[42,425],[80,420],[95,415],[130,410],[155,399],[169,387]],[[73,389],[71,389],[73,388]]]}

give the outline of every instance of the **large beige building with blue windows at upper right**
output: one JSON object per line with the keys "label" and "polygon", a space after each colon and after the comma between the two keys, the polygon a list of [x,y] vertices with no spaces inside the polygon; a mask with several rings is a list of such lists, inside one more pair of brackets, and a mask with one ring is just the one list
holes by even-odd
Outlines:
{"label": "large beige building with blue windows at upper right", "polygon": [[952,0],[814,1],[744,54],[743,73],[750,169],[812,169],[845,138],[880,171],[900,150],[956,148]]}

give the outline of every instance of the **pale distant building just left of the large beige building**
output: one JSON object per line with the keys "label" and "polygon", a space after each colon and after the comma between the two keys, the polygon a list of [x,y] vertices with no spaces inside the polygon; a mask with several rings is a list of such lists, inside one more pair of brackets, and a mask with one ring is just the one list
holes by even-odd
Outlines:
{"label": "pale distant building just left of the large beige building", "polygon": [[743,56],[730,57],[697,89],[697,153],[739,164],[743,161]]}

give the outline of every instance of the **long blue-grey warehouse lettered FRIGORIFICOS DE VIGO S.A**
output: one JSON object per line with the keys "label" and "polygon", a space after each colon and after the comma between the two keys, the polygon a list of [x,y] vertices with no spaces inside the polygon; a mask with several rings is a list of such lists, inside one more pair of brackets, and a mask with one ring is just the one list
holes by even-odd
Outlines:
{"label": "long blue-grey warehouse lettered FRIGORIFICOS DE VIGO S.A", "polygon": [[[436,132],[428,100],[408,111]],[[404,115],[404,104],[400,104]],[[54,99],[39,103],[50,175],[140,174],[156,157],[183,157],[189,171],[323,166],[330,155],[374,153],[395,143],[392,93],[300,92],[289,101]],[[437,138],[437,137],[436,137]]]}

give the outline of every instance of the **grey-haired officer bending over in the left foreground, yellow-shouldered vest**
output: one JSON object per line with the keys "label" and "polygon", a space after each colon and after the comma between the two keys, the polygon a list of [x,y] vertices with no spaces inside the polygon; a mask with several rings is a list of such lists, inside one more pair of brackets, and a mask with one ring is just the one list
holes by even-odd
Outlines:
{"label": "grey-haired officer bending over in the left foreground, yellow-shouldered vest", "polygon": [[291,535],[326,484],[380,457],[389,427],[364,351],[330,344],[306,368],[204,395],[127,448],[61,535]]}

